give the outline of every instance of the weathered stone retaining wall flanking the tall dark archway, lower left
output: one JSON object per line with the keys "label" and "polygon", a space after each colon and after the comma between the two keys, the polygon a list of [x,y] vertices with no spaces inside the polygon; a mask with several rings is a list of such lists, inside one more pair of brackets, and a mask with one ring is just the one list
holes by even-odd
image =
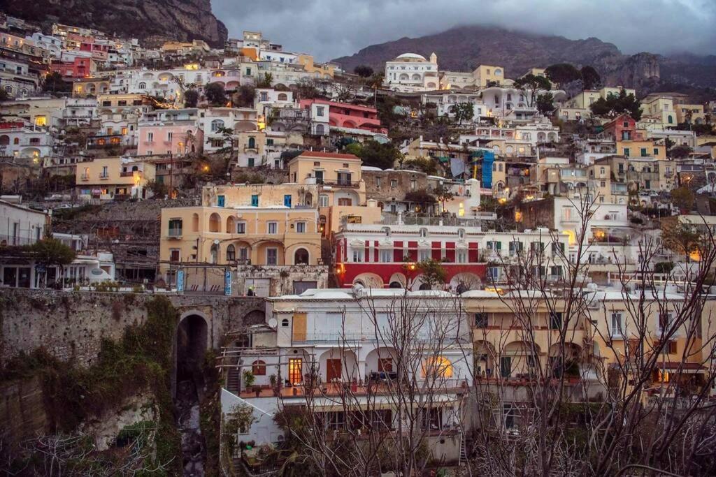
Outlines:
{"label": "weathered stone retaining wall flanking the tall dark archway, lower left", "polygon": [[[218,348],[228,330],[263,321],[259,297],[168,295],[180,315],[207,321],[208,345]],[[130,325],[143,323],[153,295],[4,289],[0,292],[0,365],[21,351],[45,348],[61,360],[90,365],[102,339],[119,340]]]}

